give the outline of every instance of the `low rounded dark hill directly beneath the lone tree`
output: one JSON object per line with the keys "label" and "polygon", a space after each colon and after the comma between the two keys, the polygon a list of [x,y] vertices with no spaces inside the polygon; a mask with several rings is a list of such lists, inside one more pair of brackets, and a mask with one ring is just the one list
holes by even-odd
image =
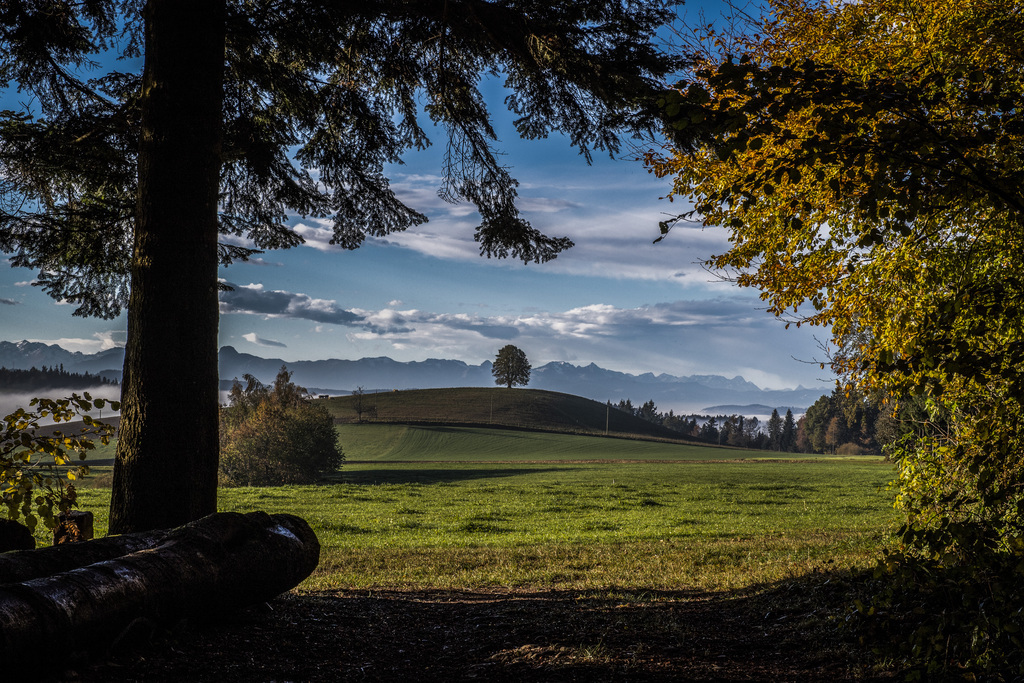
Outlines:
{"label": "low rounded dark hill directly beneath the lone tree", "polygon": [[[358,421],[356,396],[323,399],[339,424]],[[540,389],[465,387],[367,393],[365,422],[506,427],[571,434],[692,440],[590,398]]]}

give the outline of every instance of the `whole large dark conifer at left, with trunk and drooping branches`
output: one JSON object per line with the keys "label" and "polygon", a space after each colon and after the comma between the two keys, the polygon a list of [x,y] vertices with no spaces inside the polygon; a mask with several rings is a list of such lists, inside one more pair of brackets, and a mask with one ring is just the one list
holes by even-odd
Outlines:
{"label": "whole large dark conifer at left, with trunk and drooping branches", "polygon": [[523,137],[613,154],[657,128],[672,5],[2,3],[0,88],[32,104],[0,112],[0,251],[78,315],[128,308],[111,532],[216,510],[218,265],[302,244],[289,215],[331,218],[349,249],[426,221],[385,175],[430,144],[424,118],[481,254],[554,258],[571,242],[519,215],[481,81],[505,80]]}

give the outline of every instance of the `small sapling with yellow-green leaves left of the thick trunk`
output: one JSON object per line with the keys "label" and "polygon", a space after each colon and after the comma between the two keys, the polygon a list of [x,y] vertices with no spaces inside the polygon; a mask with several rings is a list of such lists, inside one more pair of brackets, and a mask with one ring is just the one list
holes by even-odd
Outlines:
{"label": "small sapling with yellow-green leaves left of the thick trunk", "polygon": [[[60,513],[77,507],[75,481],[89,474],[84,461],[96,447],[96,441],[108,444],[115,428],[92,418],[93,409],[120,403],[104,398],[92,398],[88,392],[70,398],[33,398],[29,409],[19,408],[3,418],[0,427],[0,501],[7,508],[7,517],[18,520],[34,530],[42,520],[47,528],[57,524]],[[81,417],[77,433],[59,428]],[[55,425],[43,425],[45,419]]]}

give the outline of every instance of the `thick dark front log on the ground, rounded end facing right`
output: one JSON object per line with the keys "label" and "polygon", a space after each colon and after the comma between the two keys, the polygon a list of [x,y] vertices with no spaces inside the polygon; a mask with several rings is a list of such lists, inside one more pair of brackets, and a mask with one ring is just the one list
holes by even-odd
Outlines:
{"label": "thick dark front log on the ground, rounded end facing right", "polygon": [[319,561],[316,535],[293,515],[221,512],[153,535],[156,541],[141,550],[139,537],[146,535],[122,537],[128,552],[100,561],[89,547],[115,552],[118,537],[7,553],[26,560],[41,553],[67,566],[75,553],[56,551],[81,549],[84,565],[0,586],[5,674],[102,655],[140,622],[172,626],[265,602],[297,586]]}

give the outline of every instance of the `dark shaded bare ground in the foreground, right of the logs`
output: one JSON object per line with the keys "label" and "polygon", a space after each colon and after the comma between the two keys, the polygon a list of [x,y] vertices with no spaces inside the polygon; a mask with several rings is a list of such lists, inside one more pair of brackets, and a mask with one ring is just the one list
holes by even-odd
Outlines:
{"label": "dark shaded bare ground in the foreground, right of the logs", "polygon": [[215,623],[138,625],[56,680],[891,680],[837,628],[845,601],[820,577],[738,594],[286,594]]}

